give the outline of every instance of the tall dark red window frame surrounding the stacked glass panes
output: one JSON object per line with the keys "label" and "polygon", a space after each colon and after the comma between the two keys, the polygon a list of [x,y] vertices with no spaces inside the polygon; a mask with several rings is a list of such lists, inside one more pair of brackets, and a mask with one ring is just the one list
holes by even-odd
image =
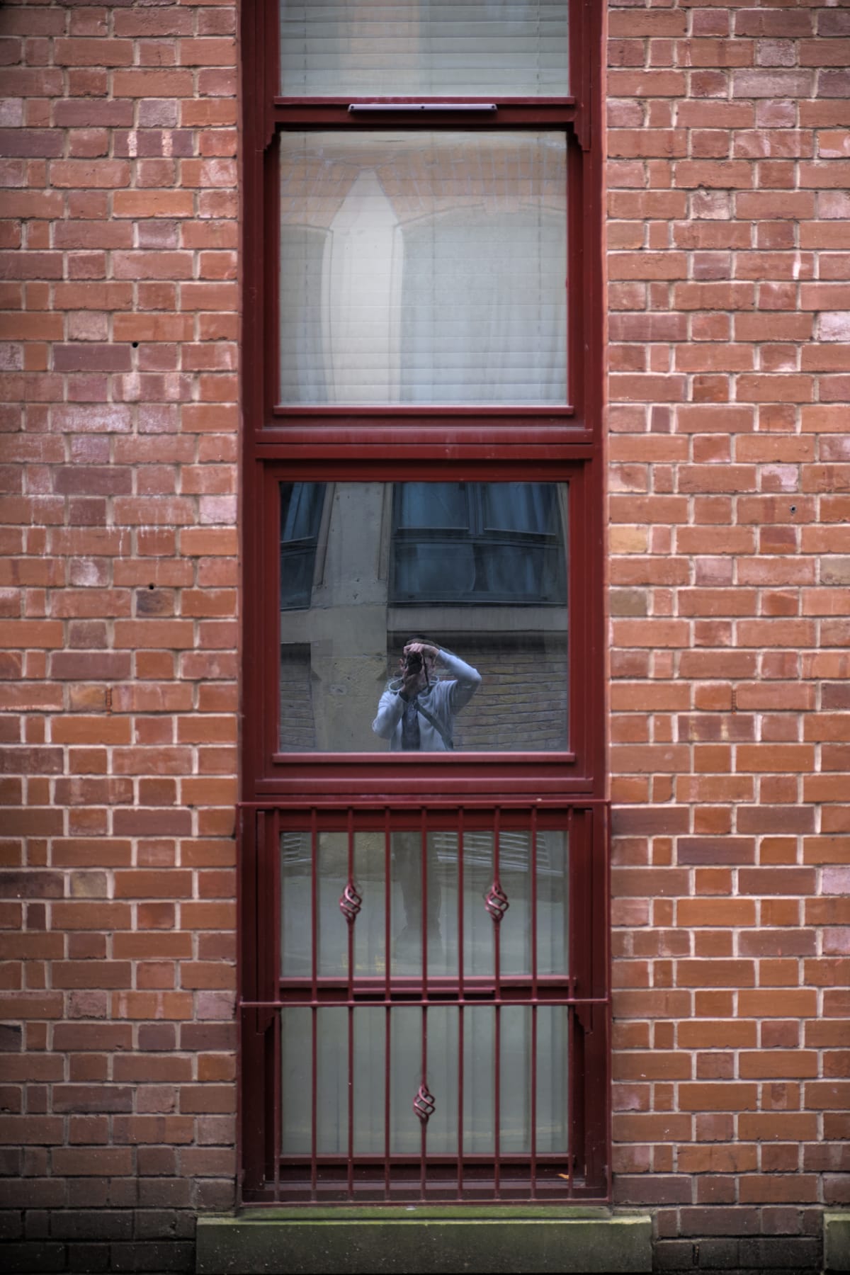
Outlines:
{"label": "tall dark red window frame surrounding the stacked glass panes", "polygon": [[[287,821],[330,827],[419,817],[445,810],[463,822],[475,817],[528,817],[559,810],[579,830],[571,904],[575,935],[585,936],[589,964],[573,946],[576,965],[565,992],[570,1014],[590,1015],[585,1042],[593,1066],[581,1071],[576,1125],[579,1158],[571,1158],[558,1192],[512,1198],[609,1198],[608,1137],[608,958],[607,806],[604,746],[603,470],[601,470],[601,166],[599,76],[601,17],[594,0],[570,3],[571,96],[505,99],[496,115],[404,110],[391,126],[451,131],[493,127],[563,129],[568,173],[568,404],[545,407],[283,407],[277,402],[278,167],[275,134],[294,129],[370,131],[387,126],[384,113],[352,113],[350,97],[279,96],[278,3],[242,6],[242,194],[243,194],[243,722],[241,764],[241,1107],[243,1197],[257,1204],[285,1198],[322,1202],[316,1159],[288,1192],[279,1139],[279,1019],[292,988],[280,982],[277,960],[279,914],[278,833]],[[488,98],[491,101],[492,98]],[[359,99],[364,101],[364,99]],[[435,99],[438,101],[438,99]],[[457,101],[452,98],[452,101]],[[464,103],[474,98],[464,98]],[[483,101],[483,99],[479,99]],[[570,725],[568,751],[432,755],[282,755],[278,751],[278,650],[280,612],[278,486],[282,481],[562,481],[570,484]],[[371,812],[371,813],[370,813]],[[376,813],[377,812],[377,813]],[[484,813],[482,813],[484,812]],[[489,813],[486,813],[489,812]],[[424,816],[427,817],[427,815]],[[352,825],[353,826],[353,825]],[[587,831],[591,829],[590,831]],[[265,936],[268,941],[259,941]],[[353,1005],[353,992],[344,989]],[[463,992],[463,988],[461,988]],[[340,992],[342,994],[342,992]],[[389,994],[389,993],[387,993]],[[427,1001],[428,988],[424,989]],[[572,1019],[571,1019],[572,1021]],[[584,1028],[582,1028],[584,1031]],[[582,1048],[585,1048],[582,1046]],[[246,1082],[247,1081],[247,1082]],[[572,1080],[571,1080],[572,1084]],[[424,1146],[424,1144],[423,1144]],[[580,1163],[581,1162],[581,1163]],[[501,1162],[496,1162],[494,1193]],[[422,1195],[426,1190],[422,1158]],[[357,1173],[361,1170],[357,1169]],[[394,1200],[389,1191],[382,1198]],[[429,1164],[428,1172],[433,1172]],[[339,1198],[380,1198],[356,1188],[347,1170]],[[463,1163],[457,1193],[464,1193]],[[408,1202],[405,1200],[404,1202]]]}

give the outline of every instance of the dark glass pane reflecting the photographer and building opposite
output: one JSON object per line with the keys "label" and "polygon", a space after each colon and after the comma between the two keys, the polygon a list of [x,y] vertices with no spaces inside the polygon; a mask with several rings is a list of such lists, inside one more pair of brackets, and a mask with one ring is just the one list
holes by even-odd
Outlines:
{"label": "dark glass pane reflecting the photographer and building opposite", "polygon": [[324,511],[308,579],[280,546],[280,751],[568,747],[565,483],[305,486]]}

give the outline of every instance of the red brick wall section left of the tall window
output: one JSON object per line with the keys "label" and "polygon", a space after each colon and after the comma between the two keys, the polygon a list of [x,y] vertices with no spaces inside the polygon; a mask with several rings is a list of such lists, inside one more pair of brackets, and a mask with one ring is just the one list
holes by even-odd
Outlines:
{"label": "red brick wall section left of the tall window", "polygon": [[192,1269],[233,1201],[236,52],[0,9],[6,1269]]}

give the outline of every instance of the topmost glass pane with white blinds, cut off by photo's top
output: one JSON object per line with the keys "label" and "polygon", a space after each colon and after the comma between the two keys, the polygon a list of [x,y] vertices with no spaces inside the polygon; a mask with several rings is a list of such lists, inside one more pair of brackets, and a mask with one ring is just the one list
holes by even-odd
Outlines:
{"label": "topmost glass pane with white blinds, cut off by photo's top", "polygon": [[280,92],[566,94],[567,15],[567,0],[280,0]]}

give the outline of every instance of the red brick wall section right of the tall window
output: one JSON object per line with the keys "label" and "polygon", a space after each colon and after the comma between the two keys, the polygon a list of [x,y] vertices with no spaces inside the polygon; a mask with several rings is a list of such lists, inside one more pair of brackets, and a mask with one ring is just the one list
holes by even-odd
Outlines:
{"label": "red brick wall section right of the tall window", "polygon": [[850,1201],[850,10],[608,22],[617,1200],[670,1266],[804,1267]]}

